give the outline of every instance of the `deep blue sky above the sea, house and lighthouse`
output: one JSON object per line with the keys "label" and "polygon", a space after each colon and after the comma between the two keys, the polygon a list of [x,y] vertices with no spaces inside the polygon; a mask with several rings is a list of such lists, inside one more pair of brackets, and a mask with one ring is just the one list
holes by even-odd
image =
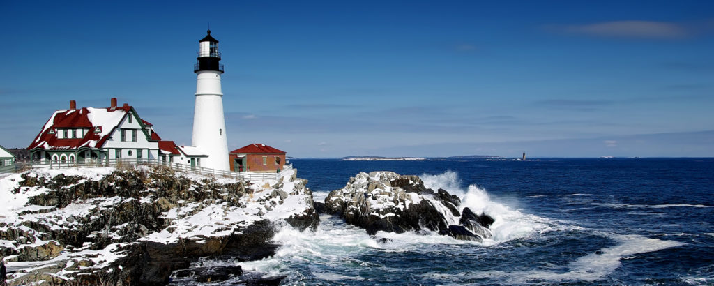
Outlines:
{"label": "deep blue sky above the sea, house and lighthouse", "polygon": [[191,144],[220,41],[228,148],[295,157],[714,156],[713,1],[12,1],[0,145],[133,105]]}

